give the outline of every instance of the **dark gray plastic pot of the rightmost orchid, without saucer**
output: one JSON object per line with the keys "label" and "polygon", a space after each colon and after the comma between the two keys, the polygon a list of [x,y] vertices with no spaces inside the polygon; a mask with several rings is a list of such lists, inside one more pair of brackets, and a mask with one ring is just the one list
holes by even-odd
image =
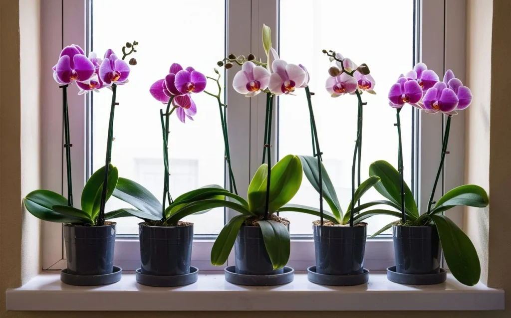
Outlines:
{"label": "dark gray plastic pot of the rightmost orchid, without saucer", "polygon": [[441,248],[435,226],[392,225],[392,237],[397,273],[439,273]]}

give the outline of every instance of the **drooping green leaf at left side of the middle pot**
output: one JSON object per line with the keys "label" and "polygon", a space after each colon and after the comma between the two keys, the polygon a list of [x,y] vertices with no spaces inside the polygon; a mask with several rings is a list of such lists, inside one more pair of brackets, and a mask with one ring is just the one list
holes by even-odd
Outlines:
{"label": "drooping green leaf at left side of the middle pot", "polygon": [[211,249],[211,263],[213,265],[222,266],[225,263],[233,249],[238,232],[248,217],[248,215],[236,215],[220,231]]}

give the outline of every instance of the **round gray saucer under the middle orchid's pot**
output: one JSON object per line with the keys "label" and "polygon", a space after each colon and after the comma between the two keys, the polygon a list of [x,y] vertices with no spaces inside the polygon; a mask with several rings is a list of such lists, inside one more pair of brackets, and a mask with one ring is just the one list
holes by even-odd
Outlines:
{"label": "round gray saucer under the middle orchid's pot", "polygon": [[284,267],[284,273],[276,275],[246,275],[236,273],[235,266],[227,266],[224,270],[225,280],[236,285],[246,286],[274,286],[283,285],[293,281],[294,270]]}

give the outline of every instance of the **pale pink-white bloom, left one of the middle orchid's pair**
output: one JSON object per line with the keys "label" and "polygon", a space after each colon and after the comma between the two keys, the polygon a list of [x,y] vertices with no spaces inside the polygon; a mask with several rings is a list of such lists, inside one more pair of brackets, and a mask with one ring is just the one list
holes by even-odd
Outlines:
{"label": "pale pink-white bloom, left one of the middle orchid's pair", "polygon": [[253,62],[245,62],[233,80],[234,89],[247,97],[252,97],[265,90],[270,83],[270,72]]}

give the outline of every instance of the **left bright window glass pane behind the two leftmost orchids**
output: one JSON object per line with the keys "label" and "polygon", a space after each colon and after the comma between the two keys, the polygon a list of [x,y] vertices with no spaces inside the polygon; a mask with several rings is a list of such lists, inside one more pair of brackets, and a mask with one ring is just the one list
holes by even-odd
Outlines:
{"label": "left bright window glass pane behind the two leftmost orchids", "polygon": [[[193,66],[206,76],[225,54],[224,0],[133,1],[101,0],[92,3],[92,48],[102,55],[107,48],[122,56],[126,41],[136,40],[138,64],[131,67],[129,83],[118,87],[112,163],[122,177],[148,188],[161,201],[164,165],[158,103],[149,87],[164,78],[172,63]],[[193,13],[193,14],[192,14]],[[212,18],[215,17],[215,18]],[[108,32],[106,30],[109,30]],[[130,58],[130,57],[129,57]],[[216,76],[216,75],[215,75]],[[216,92],[216,83],[208,89]],[[224,146],[215,100],[194,94],[197,115],[182,124],[170,120],[169,169],[173,198],[207,184],[224,185]],[[92,166],[104,165],[111,93],[94,93],[92,112]],[[165,111],[165,110],[164,110]],[[112,197],[107,211],[128,206]],[[120,218],[119,234],[137,234],[135,218]],[[195,224],[195,234],[218,234],[224,210],[184,219]]]}

